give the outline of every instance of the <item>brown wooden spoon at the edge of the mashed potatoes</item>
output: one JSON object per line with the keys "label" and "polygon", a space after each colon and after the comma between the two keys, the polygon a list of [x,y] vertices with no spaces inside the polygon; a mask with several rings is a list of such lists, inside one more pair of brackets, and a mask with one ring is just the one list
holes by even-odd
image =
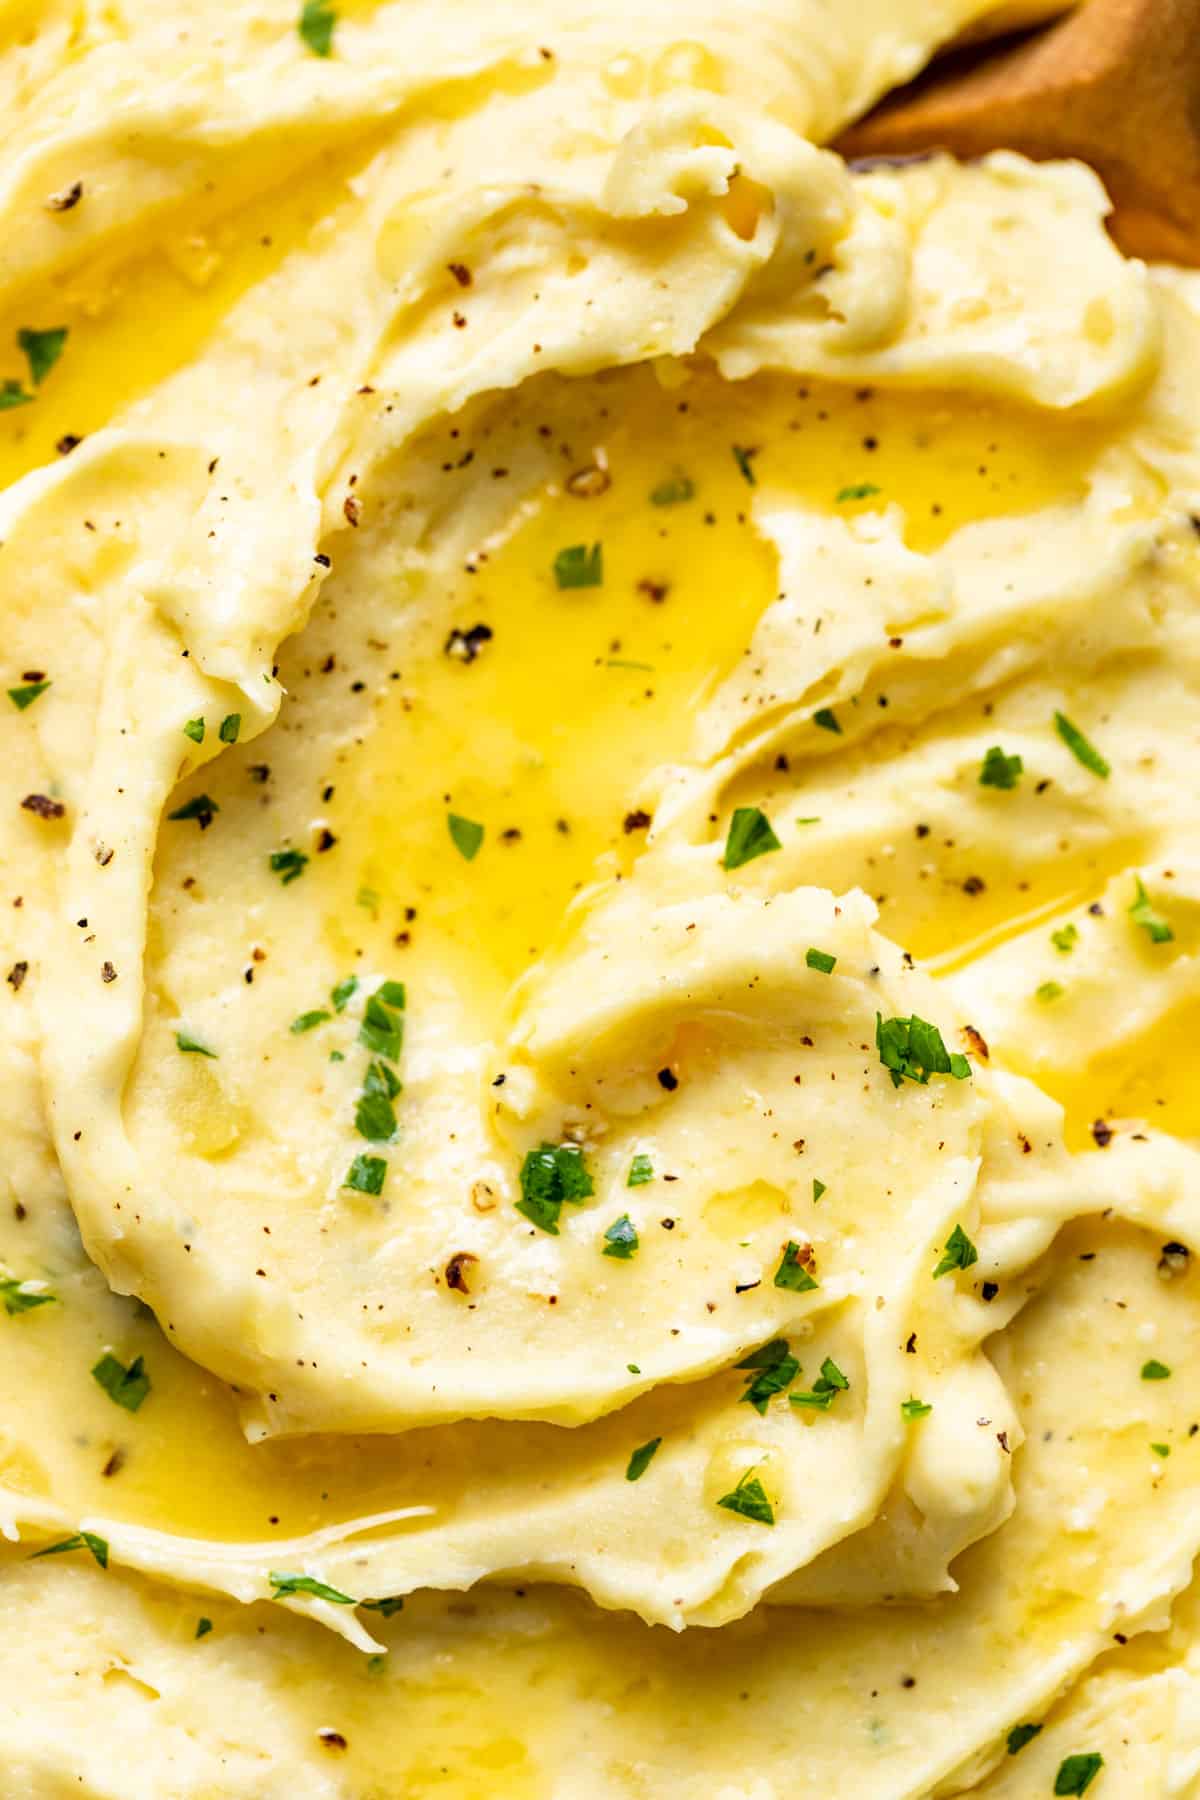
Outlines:
{"label": "brown wooden spoon at the edge of the mashed potatoes", "polygon": [[835,149],[1078,157],[1128,256],[1200,265],[1200,0],[1085,0],[1018,40],[950,52]]}

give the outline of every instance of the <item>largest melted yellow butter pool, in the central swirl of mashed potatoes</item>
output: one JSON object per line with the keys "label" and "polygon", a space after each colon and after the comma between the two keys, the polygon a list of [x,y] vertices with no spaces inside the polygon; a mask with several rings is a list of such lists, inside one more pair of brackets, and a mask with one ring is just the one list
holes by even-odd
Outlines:
{"label": "largest melted yellow butter pool, in the central swirl of mashed potatoes", "polygon": [[[698,709],[775,598],[774,549],[750,524],[759,484],[844,515],[900,504],[909,544],[932,549],[973,518],[1081,495],[1099,443],[1094,427],[1033,430],[990,401],[774,376],[664,389],[639,371],[608,394],[563,479],[468,558],[450,628],[401,657],[329,817],[336,952],[353,952],[356,904],[383,909],[412,977],[470,988],[479,1030],[570,900],[631,869],[653,770],[689,756]],[[455,450],[473,450],[470,434]],[[596,585],[560,587],[563,551],[596,558]],[[475,634],[470,661],[461,641],[448,653],[450,630]],[[470,823],[468,848],[482,826],[470,862],[450,814]],[[923,936],[941,945],[930,900]]]}

